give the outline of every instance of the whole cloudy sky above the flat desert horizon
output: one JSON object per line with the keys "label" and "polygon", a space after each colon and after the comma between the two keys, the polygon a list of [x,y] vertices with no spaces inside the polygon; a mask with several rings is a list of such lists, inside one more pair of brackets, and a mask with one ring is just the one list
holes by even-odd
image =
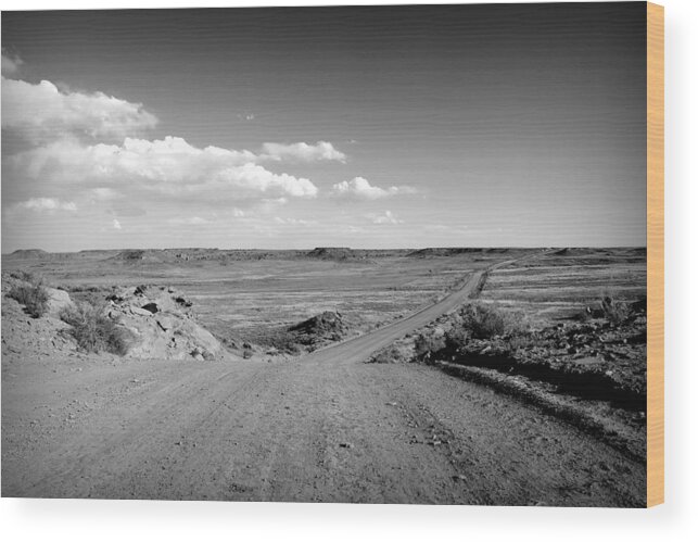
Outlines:
{"label": "whole cloudy sky above the flat desert horizon", "polygon": [[644,2],[2,13],[2,252],[645,245]]}

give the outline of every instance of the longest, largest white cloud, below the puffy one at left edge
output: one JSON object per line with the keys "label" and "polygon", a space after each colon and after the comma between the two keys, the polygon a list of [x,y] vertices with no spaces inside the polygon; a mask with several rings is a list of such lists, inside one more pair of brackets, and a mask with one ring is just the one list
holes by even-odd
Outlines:
{"label": "longest, largest white cloud, below the puffy one at left edge", "polygon": [[120,146],[85,146],[75,139],[61,139],[11,156],[8,164],[21,178],[99,184],[102,197],[119,186],[127,187],[129,193],[141,189],[211,201],[317,196],[310,180],[272,173],[253,163],[254,159],[249,151],[199,149],[175,137],[155,141],[126,138]]}

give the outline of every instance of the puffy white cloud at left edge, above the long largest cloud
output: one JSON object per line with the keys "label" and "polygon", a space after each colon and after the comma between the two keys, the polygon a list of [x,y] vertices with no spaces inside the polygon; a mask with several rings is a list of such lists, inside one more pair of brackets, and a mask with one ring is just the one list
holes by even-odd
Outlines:
{"label": "puffy white cloud at left edge, above the long largest cloud", "polygon": [[[11,62],[2,58],[3,71],[5,63],[14,65]],[[33,141],[63,135],[124,137],[156,124],[157,118],[140,103],[102,92],[62,91],[48,80],[34,85],[2,77],[2,128]]]}

